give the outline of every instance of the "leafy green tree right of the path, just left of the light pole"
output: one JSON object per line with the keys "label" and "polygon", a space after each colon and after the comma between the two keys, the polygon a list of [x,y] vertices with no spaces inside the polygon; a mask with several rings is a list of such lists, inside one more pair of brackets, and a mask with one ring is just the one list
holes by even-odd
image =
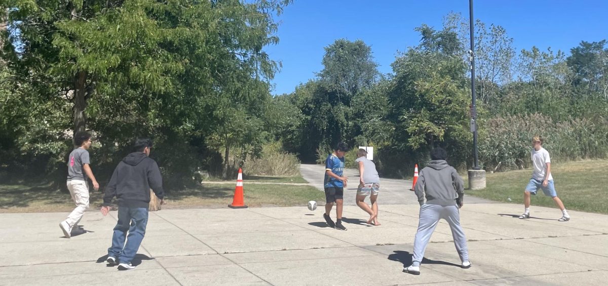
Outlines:
{"label": "leafy green tree right of the path, just left of the light pole", "polygon": [[402,151],[432,147],[466,125],[466,65],[455,33],[425,25],[417,30],[421,44],[392,64],[389,120],[396,124],[392,144]]}

